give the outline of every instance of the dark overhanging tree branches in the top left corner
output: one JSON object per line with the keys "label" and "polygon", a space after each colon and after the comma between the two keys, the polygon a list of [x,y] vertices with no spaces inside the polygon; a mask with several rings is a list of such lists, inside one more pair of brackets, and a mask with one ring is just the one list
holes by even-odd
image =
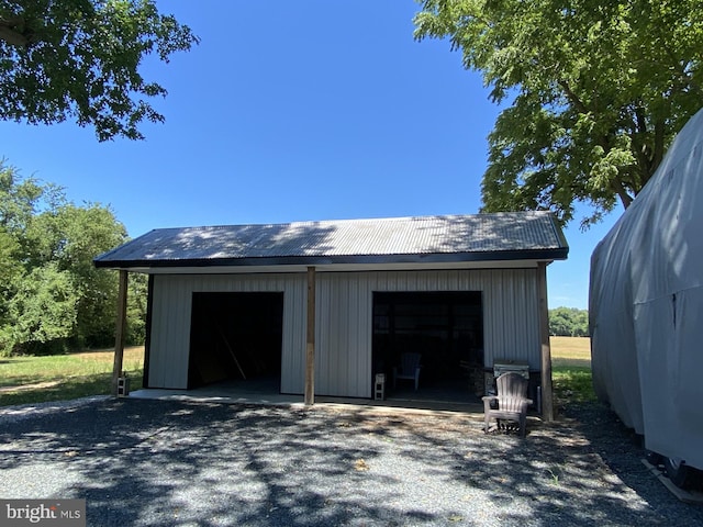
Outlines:
{"label": "dark overhanging tree branches in the top left corner", "polygon": [[166,96],[138,67],[198,43],[154,0],[5,0],[0,3],[0,119],[52,124],[75,117],[99,141],[143,138],[164,116],[143,97]]}

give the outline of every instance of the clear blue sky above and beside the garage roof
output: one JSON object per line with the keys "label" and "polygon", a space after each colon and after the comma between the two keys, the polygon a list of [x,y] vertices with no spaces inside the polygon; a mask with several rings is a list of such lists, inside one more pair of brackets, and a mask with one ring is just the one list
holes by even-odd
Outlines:
{"label": "clear blue sky above and beside the garage roof", "polygon": [[[202,42],[143,74],[169,94],[146,141],[72,122],[0,122],[0,156],[76,203],[152,228],[471,214],[499,108],[447,42],[413,40],[413,0],[161,0]],[[566,231],[549,306],[588,306],[589,259],[616,220]]]}

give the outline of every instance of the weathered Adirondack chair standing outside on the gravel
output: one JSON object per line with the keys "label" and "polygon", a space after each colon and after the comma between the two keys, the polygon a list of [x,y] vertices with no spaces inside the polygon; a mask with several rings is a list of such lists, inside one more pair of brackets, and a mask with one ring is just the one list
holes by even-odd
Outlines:
{"label": "weathered Adirondack chair standing outside on the gravel", "polygon": [[[532,404],[532,399],[527,399],[529,381],[520,373],[509,372],[499,377],[495,384],[498,395],[482,397],[486,419],[483,431],[488,434],[490,419],[494,418],[499,428],[502,427],[501,421],[516,422],[520,426],[520,437],[525,437],[527,406]],[[498,403],[496,408],[491,407],[492,402]]]}

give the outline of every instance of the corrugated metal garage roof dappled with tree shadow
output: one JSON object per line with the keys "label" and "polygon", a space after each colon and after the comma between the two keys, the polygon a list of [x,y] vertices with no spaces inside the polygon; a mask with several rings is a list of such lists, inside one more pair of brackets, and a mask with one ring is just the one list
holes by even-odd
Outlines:
{"label": "corrugated metal garage roof dappled with tree shadow", "polygon": [[565,259],[553,214],[513,212],[264,225],[157,228],[97,267],[210,267]]}

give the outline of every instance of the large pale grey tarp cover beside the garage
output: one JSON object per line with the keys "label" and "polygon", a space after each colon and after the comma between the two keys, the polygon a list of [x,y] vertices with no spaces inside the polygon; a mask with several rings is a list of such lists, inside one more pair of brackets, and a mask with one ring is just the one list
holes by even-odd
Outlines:
{"label": "large pale grey tarp cover beside the garage", "polygon": [[593,251],[589,311],[599,397],[703,469],[703,110]]}

